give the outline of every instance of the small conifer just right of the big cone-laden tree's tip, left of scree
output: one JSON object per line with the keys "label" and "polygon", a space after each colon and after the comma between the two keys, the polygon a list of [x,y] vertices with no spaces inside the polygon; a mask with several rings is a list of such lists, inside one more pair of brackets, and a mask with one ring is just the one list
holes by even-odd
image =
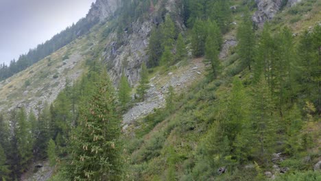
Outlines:
{"label": "small conifer just right of the big cone-laden tree's tip, left of scree", "polygon": [[130,102],[130,85],[128,84],[127,77],[125,73],[121,75],[121,80],[119,82],[119,90],[118,97],[119,102],[121,104],[121,108],[125,110],[127,108],[127,104]]}

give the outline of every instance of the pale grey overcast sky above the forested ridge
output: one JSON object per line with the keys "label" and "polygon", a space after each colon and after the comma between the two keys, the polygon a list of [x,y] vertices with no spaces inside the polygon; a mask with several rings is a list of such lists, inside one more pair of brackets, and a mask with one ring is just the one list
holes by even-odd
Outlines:
{"label": "pale grey overcast sky above the forested ridge", "polygon": [[86,16],[95,0],[0,0],[0,63],[29,49]]}

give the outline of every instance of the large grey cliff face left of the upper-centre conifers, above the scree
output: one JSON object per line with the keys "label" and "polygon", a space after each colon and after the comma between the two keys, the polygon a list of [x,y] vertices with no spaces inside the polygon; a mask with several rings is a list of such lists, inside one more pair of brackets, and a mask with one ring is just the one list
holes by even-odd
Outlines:
{"label": "large grey cliff face left of the upper-centre conifers, above the scree", "polygon": [[[152,27],[158,23],[156,16],[160,12],[160,6],[165,5],[168,12],[177,10],[174,7],[176,0],[158,1],[155,5],[154,12],[150,12],[148,18],[138,19],[136,22],[131,23],[132,32],[128,33],[126,29],[121,36],[121,45],[117,43],[117,33],[112,33],[108,36],[110,40],[106,44],[105,51],[103,52],[102,59],[108,64],[108,73],[115,84],[119,82],[122,73],[126,73],[128,82],[134,85],[140,79],[141,64],[147,62],[147,46],[149,43],[150,32]],[[182,27],[182,22],[176,21],[178,27]],[[119,37],[118,37],[119,38]]]}

